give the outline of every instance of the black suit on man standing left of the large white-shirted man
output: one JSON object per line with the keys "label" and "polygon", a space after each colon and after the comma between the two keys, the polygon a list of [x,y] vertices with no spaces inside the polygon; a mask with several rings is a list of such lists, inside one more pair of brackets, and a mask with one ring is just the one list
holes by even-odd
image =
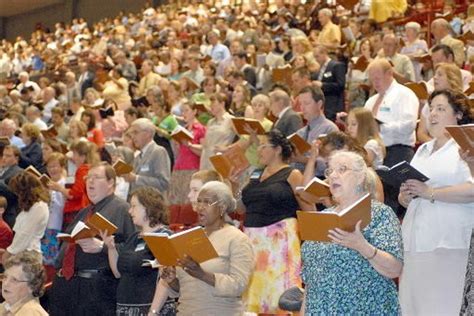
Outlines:
{"label": "black suit on man standing left of the large white-shirted man", "polygon": [[[319,73],[316,73],[313,80],[317,80]],[[326,102],[324,104],[324,114],[328,119],[334,121],[337,112],[344,111],[344,88],[346,86],[346,67],[344,64],[331,60],[324,71],[321,79]]]}

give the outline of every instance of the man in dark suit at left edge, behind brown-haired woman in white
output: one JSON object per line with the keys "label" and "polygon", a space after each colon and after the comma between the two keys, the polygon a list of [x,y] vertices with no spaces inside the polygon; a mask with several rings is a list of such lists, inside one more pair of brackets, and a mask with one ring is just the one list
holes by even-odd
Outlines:
{"label": "man in dark suit at left edge, behind brown-haired woman in white", "polygon": [[3,218],[10,227],[13,227],[15,224],[18,201],[16,195],[8,187],[8,183],[11,178],[23,170],[18,166],[19,160],[20,150],[16,146],[5,146],[3,149],[2,167],[0,169],[0,195],[4,196],[8,202]]}

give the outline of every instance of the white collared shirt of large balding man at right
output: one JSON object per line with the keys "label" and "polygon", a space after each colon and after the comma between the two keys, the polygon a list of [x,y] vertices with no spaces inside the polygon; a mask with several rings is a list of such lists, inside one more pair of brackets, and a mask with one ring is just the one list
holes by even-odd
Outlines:
{"label": "white collared shirt of large balding man at right", "polygon": [[[365,103],[365,108],[372,111],[378,97],[378,93],[370,97]],[[385,146],[415,145],[418,106],[419,101],[415,93],[393,80],[385,91],[376,114],[376,118],[383,122],[380,126],[380,135]]]}

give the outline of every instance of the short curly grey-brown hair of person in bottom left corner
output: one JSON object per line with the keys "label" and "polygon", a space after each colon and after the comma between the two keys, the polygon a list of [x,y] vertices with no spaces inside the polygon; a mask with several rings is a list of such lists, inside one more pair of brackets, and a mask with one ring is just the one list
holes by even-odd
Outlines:
{"label": "short curly grey-brown hair of person in bottom left corner", "polygon": [[28,287],[34,297],[40,297],[44,293],[46,282],[46,272],[41,264],[38,254],[35,251],[25,250],[10,258],[5,262],[5,270],[14,266],[20,266],[28,280]]}

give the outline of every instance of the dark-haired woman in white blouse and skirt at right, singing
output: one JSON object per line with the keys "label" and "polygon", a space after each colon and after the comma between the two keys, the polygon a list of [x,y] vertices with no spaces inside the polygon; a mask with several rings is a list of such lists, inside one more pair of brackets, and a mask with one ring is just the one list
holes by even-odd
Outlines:
{"label": "dark-haired woman in white blouse and skirt at right, singing", "polygon": [[400,303],[406,315],[458,315],[474,227],[474,184],[445,127],[473,122],[474,113],[453,90],[436,91],[428,101],[433,139],[417,150],[411,165],[429,180],[407,180],[399,195],[408,208]]}

